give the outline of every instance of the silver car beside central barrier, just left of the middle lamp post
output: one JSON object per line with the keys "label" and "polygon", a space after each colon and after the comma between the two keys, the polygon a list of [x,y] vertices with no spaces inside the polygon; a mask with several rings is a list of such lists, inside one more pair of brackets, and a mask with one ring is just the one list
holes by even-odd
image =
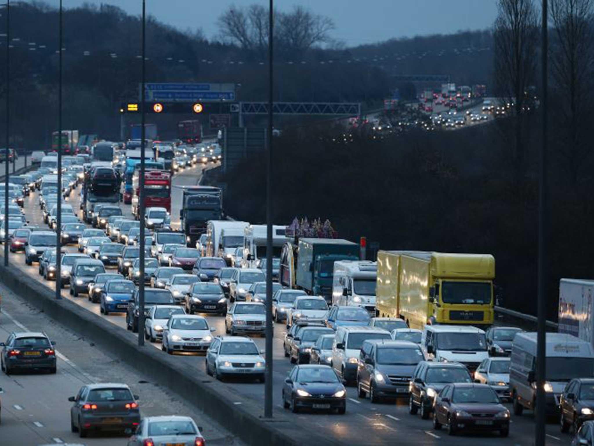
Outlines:
{"label": "silver car beside central barrier, just left of the middle lamp post", "polygon": [[216,337],[206,352],[206,373],[216,379],[250,376],[264,382],[266,362],[250,338]]}

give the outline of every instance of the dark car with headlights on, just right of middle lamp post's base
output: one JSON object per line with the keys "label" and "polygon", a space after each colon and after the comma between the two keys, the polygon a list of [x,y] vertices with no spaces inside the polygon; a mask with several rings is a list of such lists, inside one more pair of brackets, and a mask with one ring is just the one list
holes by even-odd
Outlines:
{"label": "dark car with headlights on, just right of middle lamp post's base", "polygon": [[346,412],[346,389],[330,366],[295,366],[283,384],[283,406],[293,413],[299,409]]}

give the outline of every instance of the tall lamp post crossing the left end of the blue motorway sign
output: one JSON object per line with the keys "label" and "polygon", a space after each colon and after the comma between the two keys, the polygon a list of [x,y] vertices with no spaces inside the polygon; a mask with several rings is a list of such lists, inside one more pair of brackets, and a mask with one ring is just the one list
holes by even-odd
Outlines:
{"label": "tall lamp post crossing the left end of the blue motorway sign", "polygon": [[[140,202],[138,219],[140,220],[140,279],[138,280],[138,346],[144,346],[144,83],[145,73],[144,65],[146,61],[145,54],[145,27],[146,27],[146,0],[143,0],[143,36],[142,36],[142,86],[140,88],[140,173],[138,174],[138,201]],[[134,190],[132,190],[134,193]],[[134,323],[134,322],[132,322]]]}

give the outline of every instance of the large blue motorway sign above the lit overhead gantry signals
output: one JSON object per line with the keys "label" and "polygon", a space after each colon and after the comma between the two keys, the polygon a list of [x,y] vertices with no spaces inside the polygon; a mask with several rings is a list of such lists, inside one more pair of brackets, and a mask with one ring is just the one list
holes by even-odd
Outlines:
{"label": "large blue motorway sign above the lit overhead gantry signals", "polygon": [[[141,84],[138,86],[140,98]],[[146,83],[144,95],[147,102],[218,102],[235,100],[233,83]]]}

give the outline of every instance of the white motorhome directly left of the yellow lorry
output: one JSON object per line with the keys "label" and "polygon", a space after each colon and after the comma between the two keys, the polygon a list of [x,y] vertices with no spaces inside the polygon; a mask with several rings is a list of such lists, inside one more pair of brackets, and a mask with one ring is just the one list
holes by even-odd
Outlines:
{"label": "white motorhome directly left of the yellow lorry", "polygon": [[334,262],[332,304],[364,307],[375,316],[377,262],[338,260]]}

